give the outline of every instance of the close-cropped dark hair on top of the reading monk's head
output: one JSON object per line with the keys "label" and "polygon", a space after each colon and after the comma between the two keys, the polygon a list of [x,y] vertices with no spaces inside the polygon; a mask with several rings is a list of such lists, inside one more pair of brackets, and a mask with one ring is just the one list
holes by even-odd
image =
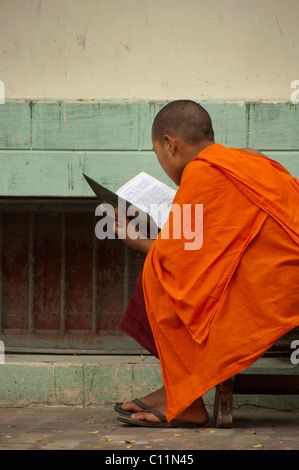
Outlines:
{"label": "close-cropped dark hair on top of the reading monk's head", "polygon": [[154,119],[153,141],[163,142],[164,135],[176,135],[189,145],[202,141],[214,142],[214,131],[209,113],[190,100],[171,101]]}

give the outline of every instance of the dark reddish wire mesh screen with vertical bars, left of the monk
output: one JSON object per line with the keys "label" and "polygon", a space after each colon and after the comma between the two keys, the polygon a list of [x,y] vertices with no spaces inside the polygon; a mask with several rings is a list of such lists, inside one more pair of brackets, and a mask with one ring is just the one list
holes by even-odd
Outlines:
{"label": "dark reddish wire mesh screen with vertical bars, left of the monk", "polygon": [[6,351],[139,353],[120,323],[145,255],[98,240],[94,200],[0,205]]}

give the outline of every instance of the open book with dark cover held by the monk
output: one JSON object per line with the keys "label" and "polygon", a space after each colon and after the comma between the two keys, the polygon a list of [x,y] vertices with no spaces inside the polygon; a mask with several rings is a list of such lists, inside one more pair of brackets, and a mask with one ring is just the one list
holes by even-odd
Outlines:
{"label": "open book with dark cover held by the monk", "polygon": [[146,217],[148,225],[152,219],[159,229],[166,222],[176,191],[153,176],[141,172],[115,193],[85,174],[84,177],[101,204],[107,203],[116,208],[122,201],[124,207],[128,209],[132,206],[133,211],[137,210],[139,215]]}

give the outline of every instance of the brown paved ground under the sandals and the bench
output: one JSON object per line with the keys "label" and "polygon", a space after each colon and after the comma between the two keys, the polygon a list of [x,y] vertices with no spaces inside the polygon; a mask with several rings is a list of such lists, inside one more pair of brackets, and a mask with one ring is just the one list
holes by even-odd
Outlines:
{"label": "brown paved ground under the sandals and the bench", "polygon": [[0,417],[0,450],[299,450],[298,411],[242,407],[232,429],[213,420],[198,429],[131,427],[110,405],[0,408]]}

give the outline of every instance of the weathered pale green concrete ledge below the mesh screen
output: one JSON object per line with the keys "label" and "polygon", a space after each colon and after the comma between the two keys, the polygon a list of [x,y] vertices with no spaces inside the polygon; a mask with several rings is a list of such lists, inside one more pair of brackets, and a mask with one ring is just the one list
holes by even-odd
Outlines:
{"label": "weathered pale green concrete ledge below the mesh screen", "polygon": [[[262,360],[252,367],[267,373]],[[282,367],[272,363],[268,372],[281,373]],[[141,398],[162,385],[160,363],[152,356],[7,354],[0,364],[0,407],[104,405]],[[211,389],[204,396],[206,405],[213,405],[214,394]],[[299,396],[235,395],[234,405],[294,410]]]}

